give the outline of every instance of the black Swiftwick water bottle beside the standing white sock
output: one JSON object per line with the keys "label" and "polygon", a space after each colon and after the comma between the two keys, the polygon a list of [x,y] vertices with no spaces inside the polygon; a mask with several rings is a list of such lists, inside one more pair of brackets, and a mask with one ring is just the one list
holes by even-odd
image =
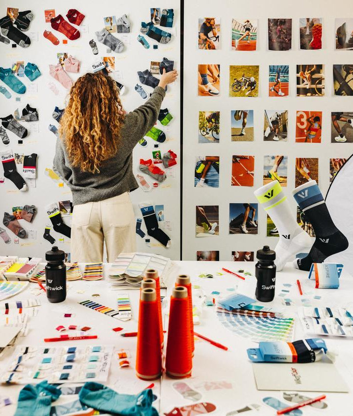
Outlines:
{"label": "black Swiftwick water bottle beside the standing white sock", "polygon": [[257,250],[255,276],[257,279],[255,297],[260,302],[271,302],[275,297],[276,284],[276,253],[269,246]]}

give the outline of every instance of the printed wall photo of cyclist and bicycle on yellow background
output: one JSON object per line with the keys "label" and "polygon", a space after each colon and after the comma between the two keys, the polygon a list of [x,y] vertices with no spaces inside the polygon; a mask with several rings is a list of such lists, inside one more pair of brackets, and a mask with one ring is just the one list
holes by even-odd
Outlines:
{"label": "printed wall photo of cyclist and bicycle on yellow background", "polygon": [[229,66],[229,95],[231,97],[257,97],[258,81],[258,65]]}

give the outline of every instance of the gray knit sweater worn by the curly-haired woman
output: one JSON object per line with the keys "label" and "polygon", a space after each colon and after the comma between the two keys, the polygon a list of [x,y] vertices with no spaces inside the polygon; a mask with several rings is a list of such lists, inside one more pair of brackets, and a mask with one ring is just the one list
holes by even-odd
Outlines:
{"label": "gray knit sweater worn by the curly-haired woman", "polygon": [[164,89],[156,87],[145,104],[126,114],[118,151],[102,163],[100,173],[81,172],[73,167],[64,143],[57,139],[53,169],[70,187],[74,205],[102,201],[138,188],[132,173],[132,150],[157,121],[164,96]]}

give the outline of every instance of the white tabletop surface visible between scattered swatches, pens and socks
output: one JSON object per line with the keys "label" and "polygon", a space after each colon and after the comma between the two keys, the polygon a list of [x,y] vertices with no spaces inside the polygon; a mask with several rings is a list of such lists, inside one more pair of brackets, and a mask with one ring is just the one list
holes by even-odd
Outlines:
{"label": "white tabletop surface visible between scattered swatches, pens and socks", "polygon": [[[175,277],[178,274],[188,274],[192,279],[192,283],[202,286],[206,294],[211,293],[212,290],[224,291],[229,287],[237,285],[239,292],[254,297],[256,284],[255,277],[247,277],[247,279],[243,281],[228,274],[223,276],[215,275],[217,272],[222,271],[222,267],[226,267],[230,270],[246,269],[254,275],[254,264],[255,263],[250,262],[175,262],[175,267],[169,277],[168,288],[170,291],[171,287],[174,286]],[[107,268],[105,267],[105,269]],[[198,276],[201,273],[211,273],[214,275],[214,278],[200,278]],[[294,285],[297,278],[305,279],[305,277],[307,277],[307,272],[295,270],[288,263],[282,272],[277,273],[277,293],[279,293],[282,283],[290,282]],[[16,297],[10,298],[10,300],[23,300],[32,297],[30,295],[30,288],[32,285],[34,285],[34,283],[30,283],[29,288]],[[58,332],[55,331],[55,327],[60,324],[87,325],[92,327],[90,332],[92,334],[97,334],[98,339],[76,341],[76,344],[109,344],[114,345],[117,348],[128,349],[132,355],[131,364],[134,366],[136,338],[123,338],[119,335],[119,332],[116,333],[112,331],[112,328],[122,326],[128,331],[136,330],[139,291],[128,291],[132,305],[133,320],[125,323],[77,304],[78,301],[96,299],[103,305],[116,308],[117,291],[110,290],[107,279],[96,282],[81,280],[73,281],[69,282],[69,286],[67,299],[61,304],[49,303],[44,293],[38,297],[42,303],[42,305],[39,306],[39,314],[37,317],[30,318],[29,333],[26,337],[18,337],[17,345],[43,345],[44,338],[58,335]],[[77,293],[77,291],[84,291],[84,293]],[[93,298],[93,294],[100,294],[100,297]],[[322,306],[345,306],[352,301],[352,278],[346,276],[343,272],[340,278],[340,288],[338,290],[318,289],[317,294],[322,296],[322,299],[318,301]],[[296,287],[291,289],[291,293],[288,297],[294,300],[296,305],[286,306],[286,311],[293,311],[292,316],[296,317],[298,305],[301,305],[299,291]],[[276,296],[275,300],[271,303],[271,306],[283,308],[281,299],[282,298]],[[74,309],[76,316],[71,319],[58,318],[55,316],[55,313],[51,312],[53,309],[56,309],[58,305],[60,305],[60,308],[63,308],[63,310],[65,308]],[[192,378],[184,380],[191,386],[204,381],[221,380],[230,381],[233,384],[234,388],[231,390],[214,390],[203,393],[202,401],[211,402],[217,406],[217,410],[212,413],[212,415],[225,416],[227,412],[235,411],[247,404],[261,404],[262,398],[265,396],[274,396],[283,401],[281,392],[256,390],[252,373],[252,364],[248,360],[246,353],[247,348],[254,347],[256,344],[245,338],[234,335],[234,333],[228,331],[220,324],[217,320],[214,307],[205,306],[203,308],[201,324],[195,327],[195,331],[229,347],[228,351],[225,351],[202,340],[195,342]],[[301,339],[303,337],[303,330],[298,321],[295,328],[295,339]],[[339,353],[335,366],[348,386],[351,386],[353,384],[353,340],[327,337],[326,341],[329,349],[334,349]],[[60,342],[59,344],[67,346],[73,345],[75,342]],[[45,345],[47,347],[57,346],[58,343],[45,343]],[[1,372],[5,368],[5,365],[6,359],[1,360]],[[165,375],[163,375],[160,382],[154,381],[155,386],[153,388],[153,393],[160,397],[160,401],[155,402],[155,405],[159,410],[160,415],[170,412],[175,406],[193,403],[188,399],[184,399],[173,389],[173,382],[175,382],[175,380],[169,379]],[[150,383],[139,380],[135,376],[133,368],[119,369],[118,359],[115,355],[112,359],[109,378],[106,384],[119,393],[135,394],[147,387]],[[23,386],[21,385],[9,387],[0,386],[0,396],[10,396],[10,398],[16,402],[18,393],[22,387]],[[318,393],[310,392],[304,392],[303,394],[310,397],[319,395]],[[70,401],[75,397],[76,396],[61,397],[57,403]],[[344,411],[347,411],[352,407],[352,399],[353,396],[351,393],[327,393],[326,402],[328,403],[328,408],[326,410],[319,411],[306,406],[303,408],[303,415],[318,415],[319,413],[322,415],[348,414],[344,413]],[[12,416],[15,409],[16,404],[6,406],[0,410],[0,414],[3,416]],[[260,414],[276,414],[272,409],[267,409],[269,409],[269,412],[266,412],[264,409]],[[245,415],[247,414],[248,413],[245,413]]]}

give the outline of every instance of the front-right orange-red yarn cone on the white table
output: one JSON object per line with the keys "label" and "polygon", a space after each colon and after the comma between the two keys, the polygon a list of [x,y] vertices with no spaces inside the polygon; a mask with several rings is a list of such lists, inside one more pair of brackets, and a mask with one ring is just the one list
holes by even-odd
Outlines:
{"label": "front-right orange-red yarn cone on the white table", "polygon": [[172,378],[191,376],[192,346],[189,299],[186,287],[173,288],[168,326],[165,367]]}

